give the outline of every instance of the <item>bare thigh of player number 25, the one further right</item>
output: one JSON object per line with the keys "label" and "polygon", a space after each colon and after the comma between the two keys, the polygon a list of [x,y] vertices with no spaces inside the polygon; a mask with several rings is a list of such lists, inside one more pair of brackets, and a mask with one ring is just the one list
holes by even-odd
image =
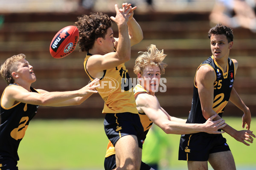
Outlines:
{"label": "bare thigh of player number 25, the one further right", "polygon": [[208,161],[214,170],[236,170],[235,161],[230,150],[210,153]]}

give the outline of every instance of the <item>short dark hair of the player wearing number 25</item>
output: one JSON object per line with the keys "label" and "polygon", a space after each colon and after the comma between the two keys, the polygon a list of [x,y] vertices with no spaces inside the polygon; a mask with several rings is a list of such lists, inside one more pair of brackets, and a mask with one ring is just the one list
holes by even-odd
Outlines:
{"label": "short dark hair of the player wearing number 25", "polygon": [[234,35],[233,30],[227,26],[223,26],[221,23],[218,23],[215,27],[212,27],[208,32],[208,37],[211,38],[212,34],[224,34],[227,37],[227,41],[233,41]]}

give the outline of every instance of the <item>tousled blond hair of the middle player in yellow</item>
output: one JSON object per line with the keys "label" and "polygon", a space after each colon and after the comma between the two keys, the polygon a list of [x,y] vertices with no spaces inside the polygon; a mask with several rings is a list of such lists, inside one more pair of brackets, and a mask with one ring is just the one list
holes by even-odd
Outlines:
{"label": "tousled blond hair of the middle player in yellow", "polygon": [[159,51],[156,45],[151,44],[148,47],[148,51],[145,51],[145,52],[140,51],[139,53],[142,53],[142,54],[137,57],[134,65],[134,73],[136,75],[139,73],[142,74],[143,69],[148,65],[150,66],[155,65],[159,67],[160,73],[164,74],[167,64],[162,61],[167,55],[163,54],[163,50]]}

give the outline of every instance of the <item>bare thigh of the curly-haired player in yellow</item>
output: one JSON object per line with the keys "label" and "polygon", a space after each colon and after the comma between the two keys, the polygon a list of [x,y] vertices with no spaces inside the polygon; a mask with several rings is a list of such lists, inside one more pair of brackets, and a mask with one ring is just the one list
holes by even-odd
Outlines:
{"label": "bare thigh of the curly-haired player in yellow", "polygon": [[139,148],[137,137],[134,135],[122,136],[116,144],[116,166],[133,164],[140,167],[142,150]]}

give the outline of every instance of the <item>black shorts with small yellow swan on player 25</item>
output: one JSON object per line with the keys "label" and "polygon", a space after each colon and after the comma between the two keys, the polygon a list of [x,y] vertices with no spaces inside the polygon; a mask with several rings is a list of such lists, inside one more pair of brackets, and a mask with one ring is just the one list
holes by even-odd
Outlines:
{"label": "black shorts with small yellow swan on player 25", "polygon": [[179,160],[208,161],[210,153],[230,150],[221,134],[195,133],[181,135]]}

